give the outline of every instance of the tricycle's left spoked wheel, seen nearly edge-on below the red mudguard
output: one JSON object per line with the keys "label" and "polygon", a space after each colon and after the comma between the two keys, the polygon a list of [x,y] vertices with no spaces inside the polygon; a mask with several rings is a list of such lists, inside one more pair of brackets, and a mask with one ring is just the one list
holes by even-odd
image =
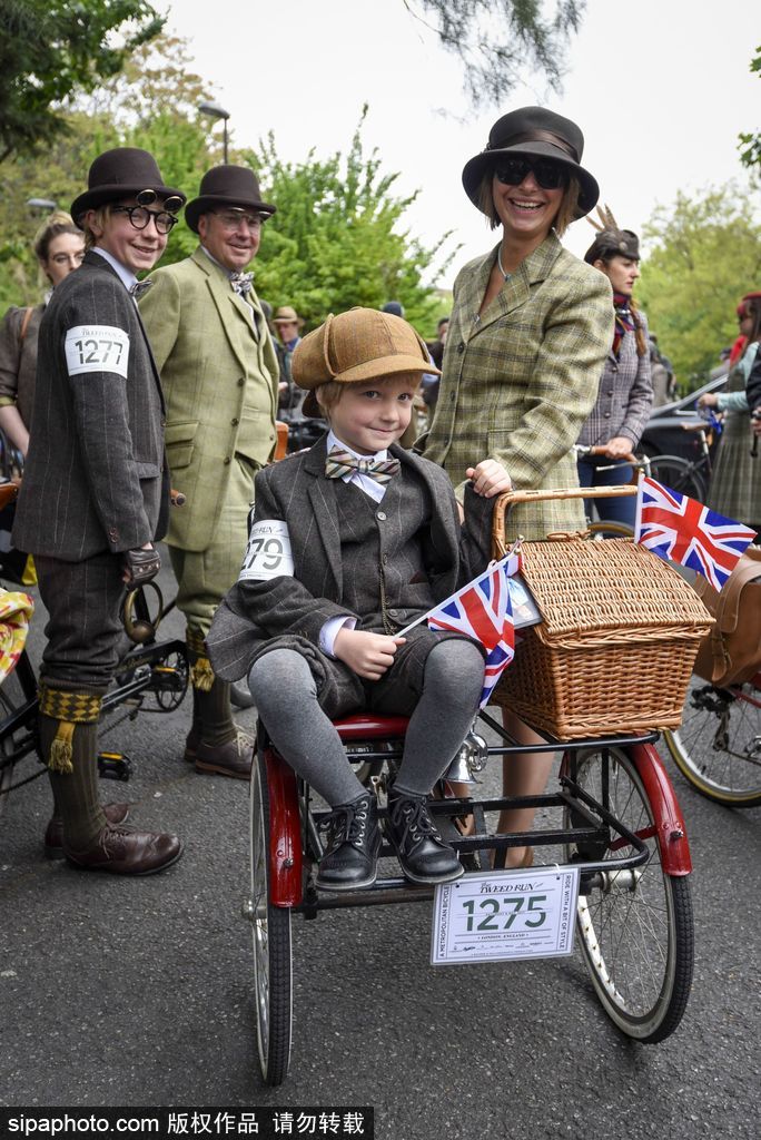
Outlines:
{"label": "tricycle's left spoked wheel, seen nearly edge-on below the red mudguard", "polygon": [[291,911],[270,902],[270,797],[257,751],[251,773],[251,904],[259,1064],[268,1084],[281,1084],[291,1061],[293,982]]}

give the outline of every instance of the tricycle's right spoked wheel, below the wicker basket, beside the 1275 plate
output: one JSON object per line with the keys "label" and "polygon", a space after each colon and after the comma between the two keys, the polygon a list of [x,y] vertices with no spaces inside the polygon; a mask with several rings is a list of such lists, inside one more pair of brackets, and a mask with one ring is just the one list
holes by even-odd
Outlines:
{"label": "tricycle's right spoked wheel, below the wicker basket, beside the 1275 plate", "polygon": [[[693,978],[689,883],[661,865],[653,808],[633,763],[620,749],[606,752],[607,759],[600,748],[579,754],[578,782],[647,844],[650,857],[633,871],[602,876],[579,896],[576,933],[606,1013],[629,1037],[663,1041],[682,1018]],[[611,834],[605,850],[572,847],[566,857],[631,853],[625,839]]]}

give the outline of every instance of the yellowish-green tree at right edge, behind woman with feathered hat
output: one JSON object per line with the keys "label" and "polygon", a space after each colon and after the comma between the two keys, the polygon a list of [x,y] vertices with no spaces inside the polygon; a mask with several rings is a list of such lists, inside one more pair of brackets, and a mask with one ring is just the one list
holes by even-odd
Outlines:
{"label": "yellowish-green tree at right edge, behind woman with feathered hat", "polygon": [[761,282],[761,225],[747,190],[729,184],[679,194],[645,227],[650,252],[638,296],[685,391],[698,386],[737,335],[735,309]]}

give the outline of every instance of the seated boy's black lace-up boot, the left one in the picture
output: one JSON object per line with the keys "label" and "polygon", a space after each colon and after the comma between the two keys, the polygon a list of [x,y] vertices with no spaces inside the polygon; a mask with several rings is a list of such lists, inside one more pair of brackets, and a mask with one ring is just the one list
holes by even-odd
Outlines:
{"label": "seated boy's black lace-up boot, the left one in the picture", "polygon": [[325,821],[328,849],[320,860],[317,886],[324,890],[358,890],[375,882],[383,842],[378,803],[371,792],[339,804]]}

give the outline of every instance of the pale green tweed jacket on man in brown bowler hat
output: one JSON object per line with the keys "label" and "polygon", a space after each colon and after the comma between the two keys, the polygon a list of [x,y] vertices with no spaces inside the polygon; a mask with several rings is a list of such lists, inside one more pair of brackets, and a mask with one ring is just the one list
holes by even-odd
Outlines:
{"label": "pale green tweed jacket on man in brown bowler hat", "polygon": [[[256,469],[272,455],[278,363],[256,293],[242,301],[202,249],[152,280],[140,314],[164,388],[172,486],[187,496],[166,542],[205,551],[230,505],[232,457]],[[253,488],[244,516],[252,497]]]}

